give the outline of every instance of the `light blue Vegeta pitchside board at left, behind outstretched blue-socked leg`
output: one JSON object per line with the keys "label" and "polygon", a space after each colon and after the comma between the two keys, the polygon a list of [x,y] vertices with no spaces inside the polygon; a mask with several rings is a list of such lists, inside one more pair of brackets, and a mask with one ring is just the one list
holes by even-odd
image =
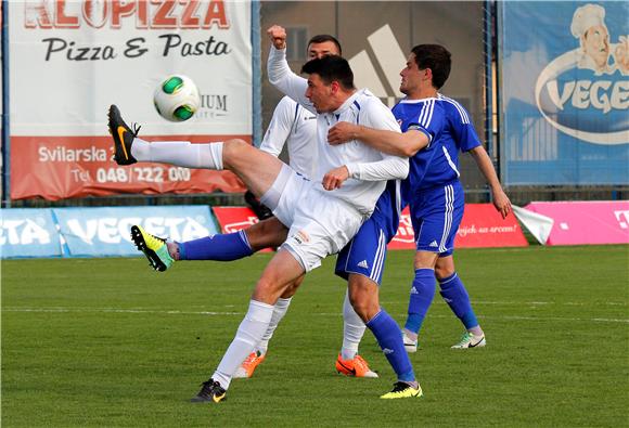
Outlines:
{"label": "light blue Vegeta pitchside board at left, behind outstretched blue-socked leg", "polygon": [[139,256],[130,228],[177,242],[217,233],[207,206],[0,210],[2,258]]}

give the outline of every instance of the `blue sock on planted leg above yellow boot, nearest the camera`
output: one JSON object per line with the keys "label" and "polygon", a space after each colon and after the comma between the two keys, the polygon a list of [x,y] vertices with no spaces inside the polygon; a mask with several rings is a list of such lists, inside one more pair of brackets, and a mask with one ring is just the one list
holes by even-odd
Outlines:
{"label": "blue sock on planted leg above yellow boot, nearest the camera", "polygon": [[390,317],[384,309],[369,320],[365,325],[375,336],[384,355],[398,376],[398,380],[413,381],[415,374],[409,354],[405,350],[402,335],[398,324]]}

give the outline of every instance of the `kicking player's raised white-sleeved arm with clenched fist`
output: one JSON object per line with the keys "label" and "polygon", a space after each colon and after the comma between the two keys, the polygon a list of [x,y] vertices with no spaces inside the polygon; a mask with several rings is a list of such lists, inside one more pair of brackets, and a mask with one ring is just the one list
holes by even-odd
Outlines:
{"label": "kicking player's raised white-sleeved arm with clenched fist", "polygon": [[271,40],[271,51],[267,62],[269,81],[284,94],[316,113],[312,104],[306,98],[307,80],[293,73],[286,62],[286,30],[279,25],[273,25],[267,30],[267,35]]}

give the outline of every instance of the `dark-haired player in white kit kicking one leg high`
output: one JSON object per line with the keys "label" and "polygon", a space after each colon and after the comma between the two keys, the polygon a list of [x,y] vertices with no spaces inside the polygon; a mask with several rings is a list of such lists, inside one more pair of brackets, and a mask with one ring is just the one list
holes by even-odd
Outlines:
{"label": "dark-haired player in white kit kicking one leg high", "polygon": [[[273,38],[275,47],[284,44],[285,39],[278,39]],[[137,131],[125,124],[116,106],[110,108],[108,125],[115,142],[114,157],[118,164],[129,165],[140,160],[188,168],[229,169],[273,209],[282,223],[290,226],[288,238],[256,284],[249,310],[234,340],[211,378],[203,384],[192,400],[195,402],[220,402],[224,399],[234,372],[267,330],[273,304],[286,286],[319,267],[322,258],[337,252],[351,238],[373,210],[384,190],[384,180],[405,178],[408,173],[407,158],[385,155],[359,141],[342,147],[328,145],[328,130],[339,120],[355,121],[360,117],[361,122],[370,127],[399,132],[395,118],[380,100],[369,91],[354,88],[347,61],[338,56],[312,60],[303,68],[309,75],[306,81],[292,74],[285,61],[273,68],[273,53],[269,66],[271,81],[298,101],[308,103],[318,113],[319,163],[316,181],[297,174],[275,157],[241,140],[210,144],[147,143],[137,138]],[[275,65],[278,63],[275,61]],[[377,296],[363,298],[377,299]],[[380,319],[388,316],[384,311],[377,315]],[[374,334],[377,337],[377,333]],[[403,351],[401,336],[386,339],[391,342],[391,348]],[[378,342],[382,346],[387,340],[378,339]],[[383,349],[391,352],[389,348]],[[412,374],[410,362],[408,366],[409,374]],[[408,382],[415,392],[405,397],[421,393],[414,374]]]}

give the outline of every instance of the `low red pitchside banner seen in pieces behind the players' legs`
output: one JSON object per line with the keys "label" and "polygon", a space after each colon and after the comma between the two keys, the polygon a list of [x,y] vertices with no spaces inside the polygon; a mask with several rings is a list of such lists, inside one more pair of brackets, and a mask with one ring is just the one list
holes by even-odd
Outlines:
{"label": "low red pitchside banner seen in pieces behind the players' legs", "polygon": [[[244,207],[215,207],[214,213],[226,233],[244,229],[258,222],[258,218]],[[528,242],[522,233],[515,216],[502,220],[491,204],[466,204],[465,213],[454,241],[457,248],[526,247]],[[409,208],[405,208],[398,233],[388,249],[415,249],[413,226]]]}

